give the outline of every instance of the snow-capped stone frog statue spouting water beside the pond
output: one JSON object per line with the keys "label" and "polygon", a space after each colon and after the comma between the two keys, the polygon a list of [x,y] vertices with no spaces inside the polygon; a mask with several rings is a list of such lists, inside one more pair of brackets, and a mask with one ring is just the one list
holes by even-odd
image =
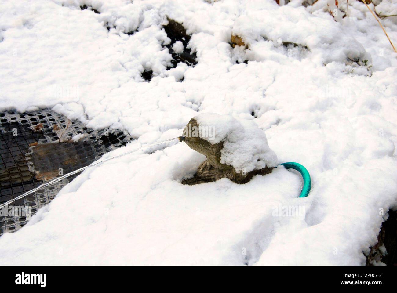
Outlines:
{"label": "snow-capped stone frog statue spouting water beside the pond", "polygon": [[193,178],[183,180],[183,184],[194,185],[220,178],[243,184],[254,175],[272,172],[278,165],[265,133],[252,120],[200,114],[187,123],[181,140],[206,156]]}

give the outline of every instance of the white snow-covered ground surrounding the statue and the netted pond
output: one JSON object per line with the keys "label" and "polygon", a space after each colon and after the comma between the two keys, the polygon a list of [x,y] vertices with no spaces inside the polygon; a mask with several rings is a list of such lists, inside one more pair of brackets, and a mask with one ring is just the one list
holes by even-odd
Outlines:
{"label": "white snow-covered ground surrounding the statue and the netted pond", "polygon": [[[177,137],[197,111],[230,114],[253,120],[279,163],[303,164],[312,191],[297,198],[300,177],[282,167],[182,185],[204,160],[184,143],[131,154],[3,235],[0,264],[364,264],[397,202],[397,54],[362,2],[339,1],[338,21],[327,3],[2,0],[0,110],[54,107],[137,139],[105,157]],[[167,16],[191,35],[195,67],[166,70]],[[381,22],[396,45],[396,17]]]}

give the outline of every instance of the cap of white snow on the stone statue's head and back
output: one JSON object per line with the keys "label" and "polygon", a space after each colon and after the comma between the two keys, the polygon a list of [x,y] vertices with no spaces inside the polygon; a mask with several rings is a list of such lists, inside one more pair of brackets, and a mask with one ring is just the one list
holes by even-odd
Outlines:
{"label": "cap of white snow on the stone statue's head and back", "polygon": [[215,113],[200,114],[195,120],[200,127],[214,129],[213,136],[200,132],[202,139],[212,144],[224,142],[220,160],[222,164],[233,166],[237,172],[278,165],[277,156],[270,149],[264,131],[254,121]]}

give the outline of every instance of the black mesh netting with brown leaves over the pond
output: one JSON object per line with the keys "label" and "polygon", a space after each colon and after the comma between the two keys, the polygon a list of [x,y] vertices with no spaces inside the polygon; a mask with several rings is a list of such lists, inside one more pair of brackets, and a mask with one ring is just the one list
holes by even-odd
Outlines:
{"label": "black mesh netting with brown leaves over the pond", "polygon": [[[0,204],[60,175],[87,166],[131,139],[123,131],[89,129],[79,121],[68,120],[50,110],[0,113]],[[39,189],[15,200],[6,209],[0,209],[0,235],[25,226],[31,214],[26,216],[27,210],[15,212],[18,208],[29,207],[35,214],[77,175]]]}

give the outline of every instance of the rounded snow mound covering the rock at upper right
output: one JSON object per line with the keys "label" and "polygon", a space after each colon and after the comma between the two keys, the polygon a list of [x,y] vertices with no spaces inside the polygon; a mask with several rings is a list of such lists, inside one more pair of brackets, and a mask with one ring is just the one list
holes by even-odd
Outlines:
{"label": "rounded snow mound covering the rock at upper right", "polygon": [[303,6],[278,7],[272,2],[253,2],[236,19],[233,33],[251,44],[254,56],[261,55],[266,42],[276,47],[289,43],[310,50],[311,59],[324,64],[346,62],[348,58],[372,63],[364,46],[341,25],[335,24],[330,15],[311,15]]}

